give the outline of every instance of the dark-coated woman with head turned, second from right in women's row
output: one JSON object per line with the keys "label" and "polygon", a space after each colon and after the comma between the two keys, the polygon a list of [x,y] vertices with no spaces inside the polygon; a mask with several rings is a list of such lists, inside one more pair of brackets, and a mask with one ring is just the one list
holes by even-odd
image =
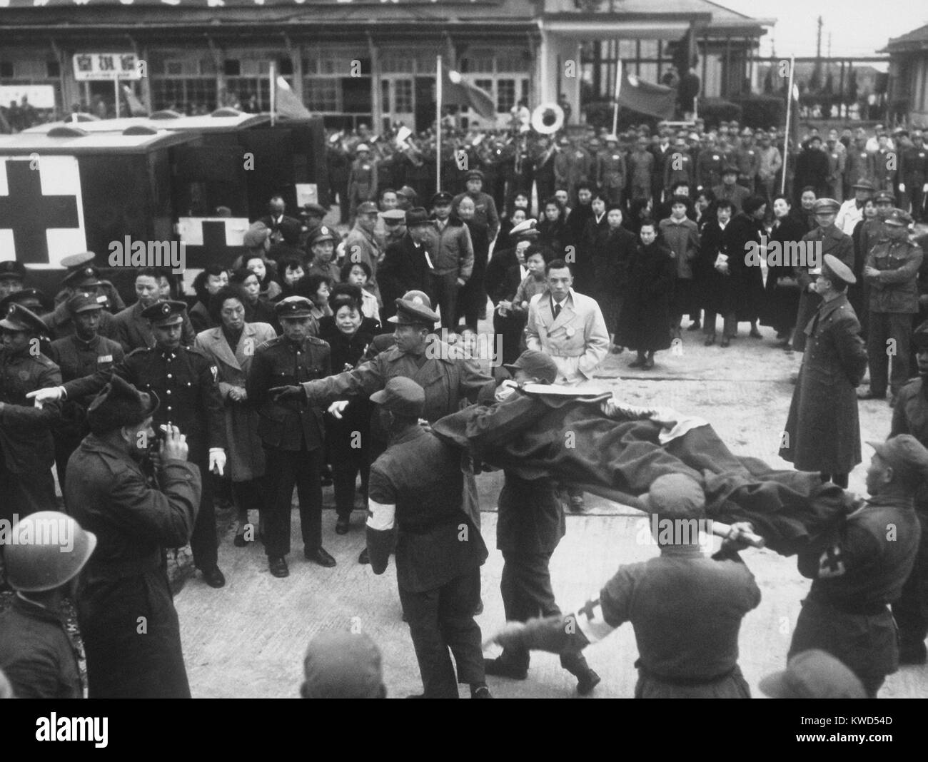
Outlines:
{"label": "dark-coated woman with head turned, second from right in women's row", "polygon": [[757,330],[757,319],[764,303],[764,273],[759,263],[749,264],[745,255],[752,250],[751,245],[760,249],[760,234],[763,229],[767,201],[764,197],[749,196],[744,199],[743,208],[731,218],[725,230],[728,248],[728,267],[731,270],[731,285],[734,288],[735,321],[750,323],[753,338],[761,338]]}

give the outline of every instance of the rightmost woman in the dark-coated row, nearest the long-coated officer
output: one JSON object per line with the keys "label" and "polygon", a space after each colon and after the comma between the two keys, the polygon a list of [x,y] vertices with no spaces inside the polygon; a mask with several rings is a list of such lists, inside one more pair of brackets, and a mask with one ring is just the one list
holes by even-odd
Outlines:
{"label": "rightmost woman in the dark-coated row, nearest the long-coated officer", "polygon": [[[783,260],[791,248],[788,245],[798,243],[806,235],[806,225],[793,214],[793,205],[789,197],[778,194],[773,197],[773,229],[770,231],[767,256],[775,252],[772,244],[780,244],[780,264],[767,264],[767,285],[764,293],[764,311],[761,325],[769,325],[777,332],[777,338],[783,340],[781,346],[788,347],[793,327],[796,324],[796,312],[799,310],[799,282],[796,280],[790,262]],[[796,250],[793,248],[793,250]]]}

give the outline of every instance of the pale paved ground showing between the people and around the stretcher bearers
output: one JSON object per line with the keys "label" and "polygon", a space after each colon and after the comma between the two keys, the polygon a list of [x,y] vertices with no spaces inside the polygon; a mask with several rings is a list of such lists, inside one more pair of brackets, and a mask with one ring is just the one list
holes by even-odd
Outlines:
{"label": "pale paved ground showing between the people and around the stretcher bearers", "polygon": [[[632,403],[669,405],[710,420],[733,451],[788,467],[777,456],[780,432],[793,392],[791,378],[799,356],[774,347],[769,329],[763,340],[744,334],[729,349],[702,347],[702,336],[684,333],[682,351],[657,356],[650,372],[627,369],[628,354],[611,356],[600,376]],[[864,439],[884,438],[890,409],[885,402],[861,402]],[[866,449],[866,448],[865,448]],[[869,449],[868,449],[869,450]],[[869,453],[865,452],[869,460]],[[851,489],[863,492],[865,464],[851,476]],[[483,505],[483,534],[494,547],[496,496],[501,476],[478,477]],[[326,500],[331,502],[330,490]],[[641,515],[587,496],[586,514],[570,515],[567,537],[551,563],[554,589],[561,607],[572,610],[623,563],[650,557],[655,549],[636,542]],[[297,520],[294,514],[294,524]],[[323,518],[325,546],[338,560],[333,569],[290,555],[290,578],[270,576],[261,546],[235,548],[229,531],[220,548],[220,565],[228,584],[213,591],[200,578],[187,582],[177,597],[191,688],[196,696],[289,697],[298,694],[306,643],[321,629],[360,627],[380,644],[386,684],[393,697],[419,692],[421,682],[408,629],[400,620],[393,565],[376,577],[355,559],[363,547],[361,512],[353,531],[334,533],[335,514]],[[293,527],[293,537],[299,532]],[[299,551],[299,546],[294,546]],[[759,608],[741,628],[741,669],[754,695],[759,679],[783,667],[799,601],[808,587],[794,559],[773,552],[748,551],[745,560],[763,592]],[[479,617],[484,633],[504,620],[499,598],[502,558],[491,551],[483,566],[483,601]],[[493,655],[488,653],[487,655]],[[596,697],[629,697],[636,679],[633,633],[627,626],[587,650],[590,664],[603,680]],[[537,654],[523,682],[490,678],[498,697],[569,697],[574,680],[561,670],[557,657]],[[466,689],[462,690],[462,695]],[[906,667],[892,676],[881,693],[886,698],[928,695],[928,667]]]}

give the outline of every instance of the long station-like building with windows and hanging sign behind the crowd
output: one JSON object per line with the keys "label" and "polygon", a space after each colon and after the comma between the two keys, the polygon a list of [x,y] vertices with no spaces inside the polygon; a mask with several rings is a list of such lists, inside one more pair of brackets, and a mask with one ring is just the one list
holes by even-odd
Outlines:
{"label": "long station-like building with windows and hanging sign behind the crowd", "polygon": [[[267,110],[274,70],[327,126],[365,122],[375,132],[396,122],[415,130],[432,125],[438,56],[493,97],[496,125],[507,123],[522,99],[532,107],[562,94],[574,115],[582,113],[587,101],[610,97],[619,59],[655,82],[675,60],[695,60],[704,95],[740,94],[752,76],[750,52],[772,23],[707,0],[4,5],[4,105],[27,95],[34,108],[58,115],[76,109],[112,115],[115,94],[128,88],[148,109]],[[121,64],[129,69],[114,82]]]}

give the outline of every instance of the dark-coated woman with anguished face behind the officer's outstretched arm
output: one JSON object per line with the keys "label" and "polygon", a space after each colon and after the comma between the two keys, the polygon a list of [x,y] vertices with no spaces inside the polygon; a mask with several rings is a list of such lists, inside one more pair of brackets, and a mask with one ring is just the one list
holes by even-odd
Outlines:
{"label": "dark-coated woman with anguished face behind the officer's outstretched arm", "polygon": [[[350,371],[358,363],[374,337],[380,323],[361,313],[361,289],[348,284],[332,286],[329,307],[332,314],[319,319],[319,338],[329,342],[332,371]],[[335,489],[335,531],[343,535],[351,525],[354,509],[354,483],[361,474],[361,493],[367,495],[370,471],[368,447],[372,405],[366,397],[354,397],[342,418],[326,413],[326,449],[332,466]]]}

